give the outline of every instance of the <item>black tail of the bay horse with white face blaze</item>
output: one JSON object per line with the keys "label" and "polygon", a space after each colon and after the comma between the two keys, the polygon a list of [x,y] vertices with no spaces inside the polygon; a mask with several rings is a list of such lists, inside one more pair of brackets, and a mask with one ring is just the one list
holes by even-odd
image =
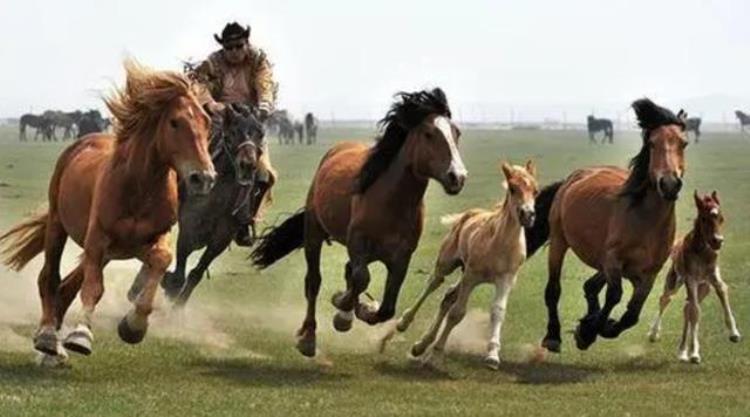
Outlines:
{"label": "black tail of the bay horse with white face blaze", "polygon": [[305,243],[305,210],[300,210],[284,223],[274,226],[260,237],[260,243],[250,253],[253,265],[265,269],[274,262],[299,249]]}

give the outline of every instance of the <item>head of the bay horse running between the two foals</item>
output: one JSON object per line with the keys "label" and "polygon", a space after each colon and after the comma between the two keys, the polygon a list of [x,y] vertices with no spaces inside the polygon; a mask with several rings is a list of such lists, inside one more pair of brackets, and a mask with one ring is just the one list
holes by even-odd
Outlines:
{"label": "head of the bay horse running between the two foals", "polygon": [[[643,148],[632,162],[635,178],[655,185],[665,200],[675,201],[682,189],[685,174],[687,114],[680,110],[675,115],[649,99],[637,100],[633,108],[643,129]],[[637,183],[632,185],[643,186]]]}

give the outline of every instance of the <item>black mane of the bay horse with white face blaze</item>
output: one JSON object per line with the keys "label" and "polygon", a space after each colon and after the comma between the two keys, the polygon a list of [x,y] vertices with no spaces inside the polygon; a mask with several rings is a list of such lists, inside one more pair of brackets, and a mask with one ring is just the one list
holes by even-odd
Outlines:
{"label": "black mane of the bay horse with white face blaze", "polygon": [[409,131],[431,114],[451,117],[448,99],[440,88],[395,95],[385,117],[378,122],[383,133],[370,150],[357,179],[356,191],[364,193],[388,169],[406,141]]}

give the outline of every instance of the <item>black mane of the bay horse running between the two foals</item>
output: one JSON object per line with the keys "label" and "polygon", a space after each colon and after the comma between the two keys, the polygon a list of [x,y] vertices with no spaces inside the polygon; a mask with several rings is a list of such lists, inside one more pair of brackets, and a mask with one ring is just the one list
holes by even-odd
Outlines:
{"label": "black mane of the bay horse running between the two foals", "polygon": [[637,204],[646,195],[649,175],[648,166],[651,162],[651,147],[649,137],[654,129],[667,125],[677,125],[685,129],[684,112],[675,115],[671,110],[657,106],[653,101],[642,98],[632,104],[638,117],[638,126],[642,129],[643,146],[640,152],[630,160],[630,176],[622,187],[620,195],[629,197],[633,204]]}

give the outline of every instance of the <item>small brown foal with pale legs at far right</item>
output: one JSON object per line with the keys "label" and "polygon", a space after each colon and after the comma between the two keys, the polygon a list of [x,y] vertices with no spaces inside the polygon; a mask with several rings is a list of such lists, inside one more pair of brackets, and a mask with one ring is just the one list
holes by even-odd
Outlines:
{"label": "small brown foal with pale legs at far right", "polygon": [[[729,305],[729,290],[721,279],[719,270],[719,250],[724,242],[721,228],[724,215],[716,191],[711,195],[693,194],[698,217],[693,222],[693,229],[682,241],[675,244],[672,251],[672,266],[664,282],[664,292],[659,298],[659,313],[649,331],[649,340],[655,342],[661,332],[661,319],[664,310],[672,297],[684,284],[687,301],[683,310],[684,325],[678,358],[682,362],[700,363],[700,343],[698,342],[698,322],[700,321],[700,303],[711,291],[716,290],[724,312],[724,323],[729,330],[729,340],[737,343],[742,336],[737,330],[737,322]],[[688,352],[688,344],[690,352]]]}

